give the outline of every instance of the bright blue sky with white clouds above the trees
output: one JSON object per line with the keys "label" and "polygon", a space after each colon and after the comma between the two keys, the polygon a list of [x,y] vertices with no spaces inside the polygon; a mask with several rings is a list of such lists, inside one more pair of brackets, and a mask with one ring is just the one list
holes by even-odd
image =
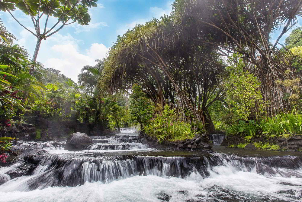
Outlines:
{"label": "bright blue sky with white clouds above the trees", "polygon": [[[45,68],[60,70],[68,78],[77,81],[81,68],[85,65],[95,65],[96,59],[104,58],[109,47],[116,41],[117,35],[123,35],[129,28],[143,24],[153,17],[169,15],[172,2],[173,0],[98,0],[97,7],[89,8],[89,25],[66,25],[47,40],[42,40],[37,61],[43,63]],[[18,9],[13,15],[25,27],[34,30],[29,16]],[[0,18],[7,30],[18,38],[16,44],[27,49],[32,57],[37,42],[35,36],[22,28],[8,12],[1,11]],[[44,22],[45,18],[41,20]],[[51,18],[47,27],[56,22],[56,18]],[[294,28],[301,25],[302,18],[299,18]],[[280,32],[281,30],[277,30],[272,33],[272,42]],[[284,44],[289,33],[281,38],[281,44]]]}

